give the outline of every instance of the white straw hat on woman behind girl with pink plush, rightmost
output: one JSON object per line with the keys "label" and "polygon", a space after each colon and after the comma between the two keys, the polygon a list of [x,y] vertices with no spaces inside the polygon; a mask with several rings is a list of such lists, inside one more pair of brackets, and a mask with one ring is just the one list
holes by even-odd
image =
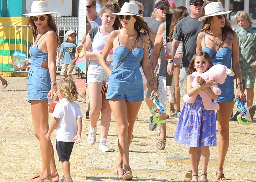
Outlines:
{"label": "white straw hat on woman behind girl with pink plush, rightmost", "polygon": [[198,20],[203,21],[205,20],[206,17],[223,15],[223,14],[230,13],[231,11],[225,11],[221,2],[212,2],[212,3],[206,4],[206,6],[204,7],[205,16],[200,17]]}

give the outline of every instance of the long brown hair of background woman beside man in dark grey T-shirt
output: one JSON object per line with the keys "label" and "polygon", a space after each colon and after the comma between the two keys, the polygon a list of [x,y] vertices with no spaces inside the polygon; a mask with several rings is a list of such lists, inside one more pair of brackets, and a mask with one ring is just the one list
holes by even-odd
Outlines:
{"label": "long brown hair of background woman beside man in dark grey T-shirt", "polygon": [[173,36],[173,32],[176,28],[177,23],[182,19],[183,16],[183,12],[186,10],[187,8],[184,6],[179,6],[176,9],[174,9],[173,12],[173,16],[172,16],[172,20],[171,20],[171,24],[170,24],[170,33],[169,33],[169,40],[170,42],[173,41],[172,36]]}

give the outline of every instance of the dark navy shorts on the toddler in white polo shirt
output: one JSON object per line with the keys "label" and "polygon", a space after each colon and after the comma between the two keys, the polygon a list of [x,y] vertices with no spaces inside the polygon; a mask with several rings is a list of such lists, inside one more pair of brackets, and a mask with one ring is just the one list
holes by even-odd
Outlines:
{"label": "dark navy shorts on the toddler in white polo shirt", "polygon": [[69,161],[74,142],[56,142],[56,150],[59,161]]}

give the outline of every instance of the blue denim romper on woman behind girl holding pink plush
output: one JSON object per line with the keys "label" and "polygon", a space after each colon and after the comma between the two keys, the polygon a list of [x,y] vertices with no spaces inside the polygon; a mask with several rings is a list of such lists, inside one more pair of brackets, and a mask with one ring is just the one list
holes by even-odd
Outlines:
{"label": "blue denim romper on woman behind girl holding pink plush", "polygon": [[[229,36],[229,44],[230,44],[230,37]],[[211,48],[206,47],[205,45],[205,37],[204,37],[204,48],[202,51],[206,51],[212,57],[215,54]],[[232,51],[228,47],[222,47],[217,51],[217,54],[212,58],[213,65],[215,64],[223,64],[227,68],[231,68],[231,57]],[[226,81],[223,84],[219,84],[218,87],[221,89],[221,95],[218,95],[218,98],[214,100],[214,102],[233,102],[235,98],[234,94],[234,80],[233,76],[227,75]]]}

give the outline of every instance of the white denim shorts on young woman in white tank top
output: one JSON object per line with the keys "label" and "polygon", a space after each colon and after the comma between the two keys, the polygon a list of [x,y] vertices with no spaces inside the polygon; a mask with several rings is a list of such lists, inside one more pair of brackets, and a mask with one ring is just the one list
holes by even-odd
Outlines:
{"label": "white denim shorts on young woman in white tank top", "polygon": [[[107,64],[110,68],[110,64]],[[87,84],[91,82],[108,82],[109,75],[103,70],[99,63],[90,62],[87,70]]]}

